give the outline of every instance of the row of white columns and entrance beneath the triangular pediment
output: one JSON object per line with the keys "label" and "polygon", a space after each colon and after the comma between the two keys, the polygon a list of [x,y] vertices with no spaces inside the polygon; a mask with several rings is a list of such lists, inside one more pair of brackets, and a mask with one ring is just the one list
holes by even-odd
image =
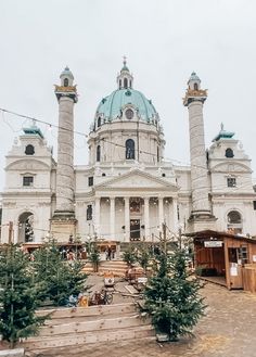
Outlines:
{"label": "row of white columns and entrance beneath the triangular pediment", "polygon": [[171,196],[102,195],[94,200],[94,212],[91,233],[98,239],[151,241],[164,222],[178,228],[177,197]]}

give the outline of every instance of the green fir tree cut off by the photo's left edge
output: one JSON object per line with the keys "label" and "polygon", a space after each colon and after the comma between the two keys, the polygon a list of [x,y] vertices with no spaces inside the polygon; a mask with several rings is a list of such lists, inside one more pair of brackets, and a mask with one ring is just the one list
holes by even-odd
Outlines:
{"label": "green fir tree cut off by the photo's left edge", "polygon": [[37,334],[46,317],[37,317],[40,286],[35,284],[28,255],[17,245],[0,251],[0,333],[11,347],[22,337]]}

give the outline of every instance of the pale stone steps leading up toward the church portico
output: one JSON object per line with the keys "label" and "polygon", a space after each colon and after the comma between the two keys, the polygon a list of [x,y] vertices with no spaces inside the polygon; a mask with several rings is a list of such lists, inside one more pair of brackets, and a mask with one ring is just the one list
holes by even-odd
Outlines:
{"label": "pale stone steps leading up toward the church portico", "polygon": [[[99,273],[112,271],[115,277],[125,277],[126,270],[128,269],[127,263],[123,260],[102,260],[99,264]],[[87,262],[84,272],[93,272],[93,265]]]}

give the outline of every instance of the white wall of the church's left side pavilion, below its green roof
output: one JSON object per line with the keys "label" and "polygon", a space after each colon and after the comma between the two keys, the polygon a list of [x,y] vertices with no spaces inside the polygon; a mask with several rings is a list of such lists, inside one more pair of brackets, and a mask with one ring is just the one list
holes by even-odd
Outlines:
{"label": "white wall of the church's left side pavilion, below its green roof", "polygon": [[[25,148],[33,144],[34,155],[26,155]],[[20,216],[34,215],[34,240],[40,242],[49,231],[52,213],[52,179],[54,161],[51,149],[38,135],[23,135],[7,155],[5,188],[2,194],[1,242],[9,240],[9,222],[13,222],[14,243],[18,241]],[[23,177],[33,176],[31,187],[23,186]]]}

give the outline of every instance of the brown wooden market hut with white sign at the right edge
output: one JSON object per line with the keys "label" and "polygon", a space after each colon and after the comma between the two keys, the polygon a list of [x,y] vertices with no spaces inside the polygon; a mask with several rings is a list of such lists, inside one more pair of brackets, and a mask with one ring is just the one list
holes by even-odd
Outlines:
{"label": "brown wooden market hut with white sign at the right edge", "polygon": [[212,230],[187,235],[193,238],[199,276],[228,289],[256,292],[256,240]]}

